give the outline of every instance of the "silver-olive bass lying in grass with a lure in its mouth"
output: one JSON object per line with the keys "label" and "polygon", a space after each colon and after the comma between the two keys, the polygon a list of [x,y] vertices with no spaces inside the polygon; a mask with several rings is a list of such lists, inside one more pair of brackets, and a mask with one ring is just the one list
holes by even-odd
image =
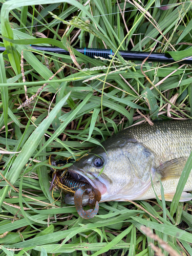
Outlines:
{"label": "silver-olive bass lying in grass with a lure in its mouth", "polygon": [[[172,201],[192,150],[192,120],[154,121],[125,129],[84,155],[68,172],[101,194],[100,202],[161,199]],[[153,183],[153,186],[152,186]],[[155,192],[154,192],[155,190]],[[180,201],[192,199],[192,172]],[[87,197],[88,198],[88,197]],[[86,202],[86,198],[83,198]],[[74,204],[73,197],[68,204]]]}

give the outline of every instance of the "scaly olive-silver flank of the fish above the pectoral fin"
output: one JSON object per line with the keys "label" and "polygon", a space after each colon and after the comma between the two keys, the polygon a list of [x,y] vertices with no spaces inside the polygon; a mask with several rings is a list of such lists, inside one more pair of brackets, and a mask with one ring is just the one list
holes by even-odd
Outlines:
{"label": "scaly olive-silver flank of the fish above the pectoral fin", "polygon": [[131,136],[151,148],[160,162],[189,156],[192,150],[191,120],[157,122],[154,126],[145,124],[144,131],[142,126],[131,129]]}

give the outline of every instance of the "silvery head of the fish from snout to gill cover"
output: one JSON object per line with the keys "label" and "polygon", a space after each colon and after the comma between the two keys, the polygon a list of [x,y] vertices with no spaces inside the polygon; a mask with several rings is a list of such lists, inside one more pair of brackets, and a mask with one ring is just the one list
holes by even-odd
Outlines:
{"label": "silvery head of the fish from snout to gill cover", "polygon": [[151,186],[155,154],[142,143],[125,141],[96,147],[68,171],[74,179],[86,181],[101,193],[101,201],[139,199]]}

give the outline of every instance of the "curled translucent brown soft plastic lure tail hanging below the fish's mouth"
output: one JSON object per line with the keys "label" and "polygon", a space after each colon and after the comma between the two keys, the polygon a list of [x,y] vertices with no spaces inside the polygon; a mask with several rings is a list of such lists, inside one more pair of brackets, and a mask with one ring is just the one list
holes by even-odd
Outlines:
{"label": "curled translucent brown soft plastic lure tail hanging below the fish's mouth", "polygon": [[[94,209],[83,210],[82,198],[84,193],[90,196],[89,205],[90,206],[95,205]],[[99,211],[98,201],[100,201],[100,199],[101,199],[101,194],[97,189],[95,188],[93,189],[91,187],[88,188],[87,186],[79,187],[74,195],[74,202],[75,202],[75,207],[77,209],[78,215],[83,219],[87,219],[87,220],[92,219],[95,215],[97,215]]]}

